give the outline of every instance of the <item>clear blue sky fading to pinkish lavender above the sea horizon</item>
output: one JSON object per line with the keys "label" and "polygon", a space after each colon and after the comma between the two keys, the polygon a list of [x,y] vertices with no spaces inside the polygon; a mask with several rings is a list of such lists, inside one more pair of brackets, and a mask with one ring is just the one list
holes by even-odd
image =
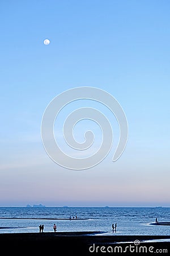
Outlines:
{"label": "clear blue sky fading to pinkish lavender above the sea horizon", "polygon": [[[0,14],[0,207],[170,207],[169,1],[7,0]],[[116,118],[97,102],[67,106],[58,120],[59,139],[65,115],[81,106],[107,115],[114,133],[103,162],[74,171],[46,154],[41,119],[54,97],[80,86],[116,98],[129,137],[112,162]],[[100,141],[90,121],[79,122],[77,139],[91,127]]]}

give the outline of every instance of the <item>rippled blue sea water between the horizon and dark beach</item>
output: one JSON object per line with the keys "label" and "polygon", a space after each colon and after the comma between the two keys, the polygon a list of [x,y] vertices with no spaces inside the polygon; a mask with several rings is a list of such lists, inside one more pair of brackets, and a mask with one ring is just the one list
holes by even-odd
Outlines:
{"label": "rippled blue sea water between the horizon and dark beach", "polygon": [[[70,216],[71,220],[68,220]],[[73,220],[73,216],[77,216],[78,220]],[[114,236],[169,235],[170,226],[150,225],[156,217],[158,221],[170,221],[170,208],[1,207],[0,233],[39,232],[40,224],[44,224],[44,232],[53,232],[53,224],[56,223],[57,232],[102,231]],[[112,232],[113,223],[117,223],[116,233]]]}

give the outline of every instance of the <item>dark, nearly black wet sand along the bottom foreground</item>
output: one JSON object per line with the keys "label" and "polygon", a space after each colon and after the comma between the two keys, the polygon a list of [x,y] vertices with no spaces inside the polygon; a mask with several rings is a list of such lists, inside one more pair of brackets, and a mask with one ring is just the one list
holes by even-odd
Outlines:
{"label": "dark, nearly black wet sand along the bottom foreground", "polygon": [[[158,250],[170,251],[170,242],[142,242],[170,239],[170,236],[103,236],[101,232],[98,232],[100,236],[96,234],[97,232],[8,233],[0,234],[0,245],[1,251],[5,250],[4,255],[145,255],[139,251],[134,253],[133,250],[139,250],[140,246],[146,246],[147,254],[151,255],[154,255],[153,252],[159,255]],[[140,244],[135,245],[135,240],[139,240]],[[131,249],[126,247],[130,245],[133,246]],[[154,247],[152,252],[149,251],[150,246]]]}

